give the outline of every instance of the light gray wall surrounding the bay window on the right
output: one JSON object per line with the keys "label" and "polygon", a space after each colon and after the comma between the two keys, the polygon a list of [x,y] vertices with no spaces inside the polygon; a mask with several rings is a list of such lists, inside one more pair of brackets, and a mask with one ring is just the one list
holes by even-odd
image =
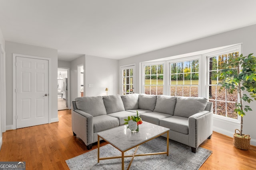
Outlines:
{"label": "light gray wall surrounding the bay window on the right", "polygon": [[[180,45],[175,45],[172,47],[167,47],[164,49],[152,51],[149,53],[144,53],[141,55],[136,55],[126,59],[119,60],[118,65],[123,66],[127,64],[136,63],[136,93],[139,93],[140,88],[140,63],[155,59],[161,59],[165,57],[171,57],[176,55],[182,55],[186,53],[192,53],[196,51],[202,51],[207,49],[212,49],[216,47],[223,47],[233,44],[242,43],[242,53],[248,55],[254,53],[256,55],[256,25],[251,25],[248,27],[243,27],[240,29],[235,29],[232,31],[220,33],[217,35],[212,35],[210,37],[205,37],[195,41],[190,41]],[[181,35],[182,36],[182,35]],[[120,81],[120,80],[119,80]],[[256,145],[256,102],[250,104],[253,111],[247,113],[244,117],[244,133],[250,134],[252,140],[251,145]],[[234,127],[240,129],[239,123],[232,123],[227,121],[222,121],[220,119],[214,119],[214,131],[218,131],[225,135],[232,136],[234,133]]]}

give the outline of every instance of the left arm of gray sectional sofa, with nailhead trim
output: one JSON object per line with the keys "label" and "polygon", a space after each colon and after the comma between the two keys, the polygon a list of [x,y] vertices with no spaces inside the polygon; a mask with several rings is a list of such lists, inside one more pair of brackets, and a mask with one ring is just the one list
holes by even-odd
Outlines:
{"label": "left arm of gray sectional sofa, with nailhead trim", "polygon": [[71,110],[72,114],[72,131],[75,133],[85,145],[93,143],[93,116],[81,111]]}

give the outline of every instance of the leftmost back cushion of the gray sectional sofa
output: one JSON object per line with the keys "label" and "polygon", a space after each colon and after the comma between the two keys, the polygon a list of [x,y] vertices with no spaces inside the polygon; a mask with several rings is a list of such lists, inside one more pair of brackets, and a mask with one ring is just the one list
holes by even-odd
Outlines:
{"label": "leftmost back cushion of the gray sectional sofa", "polygon": [[106,115],[106,108],[102,96],[76,98],[76,107],[92,116]]}

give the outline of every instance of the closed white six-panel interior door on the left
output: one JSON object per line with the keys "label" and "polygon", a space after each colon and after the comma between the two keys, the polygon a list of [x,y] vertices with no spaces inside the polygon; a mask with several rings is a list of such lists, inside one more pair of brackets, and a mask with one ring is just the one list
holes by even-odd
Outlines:
{"label": "closed white six-panel interior door on the left", "polygon": [[48,60],[16,56],[16,128],[49,122]]}

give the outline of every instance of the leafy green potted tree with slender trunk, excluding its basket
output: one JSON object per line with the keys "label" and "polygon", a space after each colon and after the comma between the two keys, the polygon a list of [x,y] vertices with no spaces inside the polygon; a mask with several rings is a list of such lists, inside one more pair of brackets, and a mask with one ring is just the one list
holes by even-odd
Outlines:
{"label": "leafy green potted tree with slender trunk, excluding its basket", "polygon": [[[238,92],[239,100],[236,102],[236,107],[234,111],[241,116],[241,127],[240,136],[242,136],[243,131],[243,116],[245,111],[252,111],[250,106],[244,106],[244,102],[256,101],[256,57],[249,54],[248,56],[239,57],[235,55],[230,55],[226,63],[222,63],[220,68],[224,68],[218,72],[218,75],[223,80],[220,90],[226,88],[227,92],[233,94],[233,92]],[[249,95],[243,93],[247,91]]]}

